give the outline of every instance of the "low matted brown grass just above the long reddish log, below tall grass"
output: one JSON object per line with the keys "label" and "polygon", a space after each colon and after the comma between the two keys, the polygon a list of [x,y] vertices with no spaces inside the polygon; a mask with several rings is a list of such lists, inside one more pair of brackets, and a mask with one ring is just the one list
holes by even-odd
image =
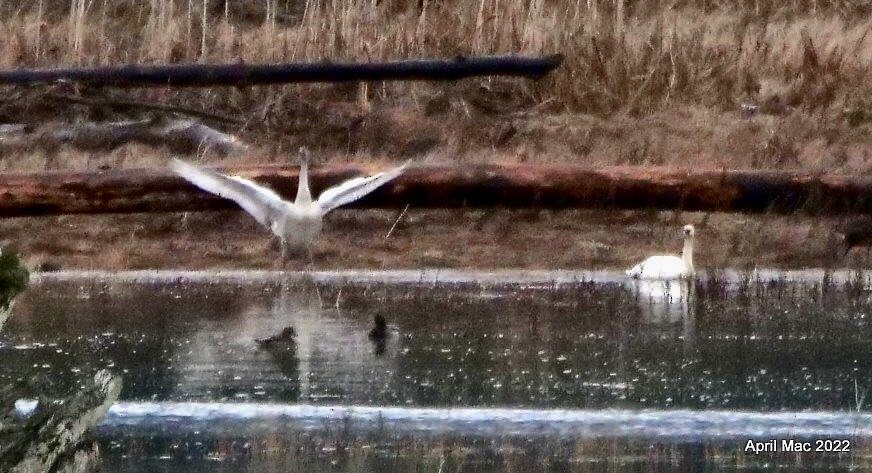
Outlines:
{"label": "low matted brown grass just above the long reddish log, below tall grass", "polygon": [[[0,107],[2,109],[2,107]],[[872,173],[872,125],[850,127],[803,113],[743,118],[705,107],[607,119],[583,114],[427,116],[403,107],[370,112],[324,104],[318,118],[286,116],[286,134],[225,164],[294,162],[299,144],[321,150],[324,161],[380,161],[412,157],[435,161],[668,165],[709,169],[801,169]],[[242,131],[248,141],[259,134]],[[263,144],[263,143],[262,143]],[[40,171],[49,157],[58,168],[163,166],[170,152],[127,145],[89,155],[62,148],[57,154],[0,157],[0,170]],[[212,157],[206,157],[211,160]]]}

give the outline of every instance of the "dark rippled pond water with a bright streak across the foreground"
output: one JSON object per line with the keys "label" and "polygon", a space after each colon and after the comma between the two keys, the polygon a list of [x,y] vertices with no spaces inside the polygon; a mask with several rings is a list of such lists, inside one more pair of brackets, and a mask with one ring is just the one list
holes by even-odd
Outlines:
{"label": "dark rippled pond water with a bright streak across the foreground", "polygon": [[[141,276],[37,280],[0,335],[0,381],[46,375],[22,398],[123,375],[111,471],[868,463],[872,298],[852,277]],[[291,347],[254,341],[288,325]],[[742,452],[787,437],[852,448]]]}

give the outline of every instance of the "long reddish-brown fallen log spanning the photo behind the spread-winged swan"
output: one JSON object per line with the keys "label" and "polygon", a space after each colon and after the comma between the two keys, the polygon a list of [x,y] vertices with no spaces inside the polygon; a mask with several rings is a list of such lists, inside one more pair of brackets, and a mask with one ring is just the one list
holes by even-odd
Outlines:
{"label": "long reddish-brown fallen log spanning the photo behind the spread-winged swan", "polygon": [[[237,166],[292,198],[295,166]],[[374,166],[329,165],[311,173],[314,192],[375,172]],[[571,165],[415,166],[350,207],[620,208],[726,212],[872,212],[872,179],[755,171]],[[167,169],[0,175],[0,216],[170,212],[234,208]]]}

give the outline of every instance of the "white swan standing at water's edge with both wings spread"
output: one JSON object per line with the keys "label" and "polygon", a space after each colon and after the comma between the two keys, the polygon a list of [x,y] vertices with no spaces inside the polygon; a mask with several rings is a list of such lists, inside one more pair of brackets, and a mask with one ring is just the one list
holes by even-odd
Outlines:
{"label": "white swan standing at water's edge with both wings spread", "polygon": [[309,191],[308,152],[300,148],[300,182],[294,202],[283,200],[272,190],[239,176],[225,176],[214,170],[173,159],[170,167],[195,186],[230,199],[250,213],[261,225],[279,237],[282,262],[291,249],[306,249],[312,261],[312,246],[321,233],[324,215],[358,200],[405,171],[409,162],[369,177],[357,177],[331,187],[312,200]]}

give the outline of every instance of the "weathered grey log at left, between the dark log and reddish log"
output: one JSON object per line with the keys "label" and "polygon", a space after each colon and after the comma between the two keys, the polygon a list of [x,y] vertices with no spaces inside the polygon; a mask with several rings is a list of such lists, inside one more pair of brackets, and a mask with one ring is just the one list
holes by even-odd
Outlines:
{"label": "weathered grey log at left, between the dark log and reddish log", "polygon": [[106,123],[45,124],[35,130],[22,124],[0,125],[0,154],[54,151],[67,145],[81,151],[107,152],[128,143],[165,147],[176,153],[214,151],[222,156],[247,146],[233,135],[192,120],[129,120]]}

